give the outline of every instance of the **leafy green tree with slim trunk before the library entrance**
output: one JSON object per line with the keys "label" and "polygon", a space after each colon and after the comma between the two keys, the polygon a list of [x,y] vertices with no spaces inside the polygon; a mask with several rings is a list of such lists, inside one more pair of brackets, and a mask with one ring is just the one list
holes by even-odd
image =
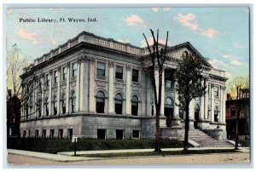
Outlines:
{"label": "leafy green tree with slim trunk before the library entrance", "polygon": [[[189,148],[189,102],[195,97],[201,97],[206,94],[206,77],[202,76],[202,60],[193,54],[185,52],[178,61],[176,72],[176,90],[180,106],[186,112],[185,117],[185,138],[184,151]],[[202,84],[204,81],[204,84]]]}

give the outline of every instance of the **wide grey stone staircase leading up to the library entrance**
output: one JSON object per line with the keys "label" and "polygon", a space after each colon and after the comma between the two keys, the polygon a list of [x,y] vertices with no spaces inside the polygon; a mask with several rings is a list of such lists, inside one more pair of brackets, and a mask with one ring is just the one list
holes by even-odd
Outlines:
{"label": "wide grey stone staircase leading up to the library entrance", "polygon": [[215,140],[200,129],[189,130],[189,140],[193,140],[200,147],[232,147],[227,140]]}

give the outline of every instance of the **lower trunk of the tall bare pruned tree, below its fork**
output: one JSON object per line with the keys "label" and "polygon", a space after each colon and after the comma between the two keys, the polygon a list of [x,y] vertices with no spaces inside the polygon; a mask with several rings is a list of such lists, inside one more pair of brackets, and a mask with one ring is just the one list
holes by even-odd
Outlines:
{"label": "lower trunk of the tall bare pruned tree, below its fork", "polygon": [[160,149],[160,107],[156,106],[155,115],[155,137],[154,137],[154,152],[161,152]]}

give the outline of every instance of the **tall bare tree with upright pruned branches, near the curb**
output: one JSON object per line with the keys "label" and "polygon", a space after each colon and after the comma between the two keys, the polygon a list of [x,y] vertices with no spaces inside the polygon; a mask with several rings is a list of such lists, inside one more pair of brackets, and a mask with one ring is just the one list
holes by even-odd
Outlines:
{"label": "tall bare tree with upright pruned branches, near the curb", "polygon": [[[153,89],[154,89],[154,105],[156,108],[156,119],[155,119],[155,145],[154,145],[154,151],[160,152],[160,106],[161,106],[161,92],[162,92],[162,77],[163,77],[163,71],[164,71],[164,64],[166,61],[166,49],[167,49],[167,42],[168,42],[168,32],[166,35],[166,46],[165,49],[159,49],[159,30],[157,30],[156,39],[154,37],[154,32],[150,29],[151,35],[154,40],[154,44],[152,49],[150,48],[148,44],[148,39],[145,37],[145,34],[143,33],[143,36],[145,37],[148,51],[151,57],[152,62],[152,70],[151,70],[151,79],[153,83]],[[155,74],[155,71],[157,74]],[[158,87],[158,88],[157,88]],[[158,91],[157,91],[158,89]],[[158,93],[158,94],[157,94]]]}

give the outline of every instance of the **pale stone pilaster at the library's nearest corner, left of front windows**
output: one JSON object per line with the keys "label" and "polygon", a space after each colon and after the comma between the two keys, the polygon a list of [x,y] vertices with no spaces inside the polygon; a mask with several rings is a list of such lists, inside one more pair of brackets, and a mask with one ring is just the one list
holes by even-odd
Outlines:
{"label": "pale stone pilaster at the library's nearest corner, left of front windows", "polygon": [[96,100],[95,100],[95,60],[90,58],[90,73],[89,73],[89,112],[96,112]]}

